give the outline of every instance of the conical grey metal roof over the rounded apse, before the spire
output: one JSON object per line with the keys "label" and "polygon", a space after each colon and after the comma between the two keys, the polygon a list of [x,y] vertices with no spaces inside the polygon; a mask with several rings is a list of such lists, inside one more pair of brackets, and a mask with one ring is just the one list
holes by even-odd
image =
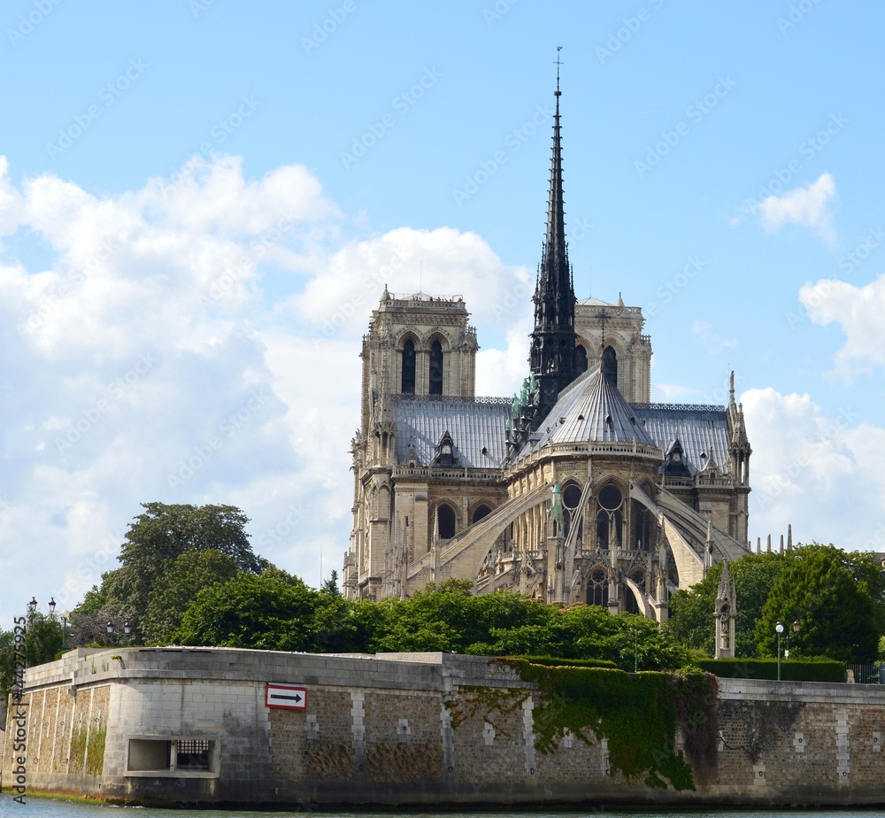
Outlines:
{"label": "conical grey metal roof over the rounded apse, before the spire", "polygon": [[599,368],[589,370],[559,393],[557,404],[538,428],[539,445],[585,441],[655,445],[633,408]]}

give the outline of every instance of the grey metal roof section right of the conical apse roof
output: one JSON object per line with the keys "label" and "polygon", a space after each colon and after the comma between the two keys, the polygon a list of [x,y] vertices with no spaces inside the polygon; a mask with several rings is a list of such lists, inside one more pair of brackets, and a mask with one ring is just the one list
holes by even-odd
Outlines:
{"label": "grey metal roof section right of the conical apse roof", "polygon": [[712,458],[718,472],[728,462],[728,416],[725,406],[631,404],[636,418],[661,449],[679,438],[683,462],[696,475]]}

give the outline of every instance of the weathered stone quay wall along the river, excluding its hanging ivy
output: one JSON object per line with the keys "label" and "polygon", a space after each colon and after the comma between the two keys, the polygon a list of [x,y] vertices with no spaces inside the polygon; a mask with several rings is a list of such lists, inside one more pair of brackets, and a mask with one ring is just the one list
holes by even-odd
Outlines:
{"label": "weathered stone quay wall along the river, excluding its hanging ivy", "polygon": [[[268,684],[294,706],[267,706]],[[163,806],[885,804],[878,685],[720,679],[694,791],[625,780],[592,731],[541,752],[543,691],[482,657],[79,650],[28,669],[21,704],[5,790],[24,768],[30,793]]]}

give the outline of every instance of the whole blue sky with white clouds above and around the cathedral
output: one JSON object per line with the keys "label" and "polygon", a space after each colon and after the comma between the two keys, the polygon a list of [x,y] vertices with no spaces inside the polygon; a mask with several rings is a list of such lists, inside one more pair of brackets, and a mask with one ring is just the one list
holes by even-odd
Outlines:
{"label": "whole blue sky with white clouds above and around the cathedral", "polygon": [[644,308],[655,399],[721,403],[735,370],[754,542],[885,551],[883,26],[834,0],[4,4],[2,621],[73,607],[150,500],[239,505],[268,559],[340,568],[384,283],[463,294],[477,390],[516,388],[557,45],[578,296]]}

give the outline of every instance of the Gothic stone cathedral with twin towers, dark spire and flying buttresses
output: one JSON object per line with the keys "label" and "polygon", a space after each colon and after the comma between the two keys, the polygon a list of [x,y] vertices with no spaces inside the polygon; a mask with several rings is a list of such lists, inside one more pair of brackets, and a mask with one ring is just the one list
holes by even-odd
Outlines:
{"label": "Gothic stone cathedral with twin towers, dark spire and flying buttresses", "polygon": [[650,403],[643,313],[576,300],[559,88],[535,330],[519,394],[476,397],[460,297],[385,288],[363,340],[349,598],[467,579],[666,621],[673,590],[747,547],[750,442],[727,406]]}

